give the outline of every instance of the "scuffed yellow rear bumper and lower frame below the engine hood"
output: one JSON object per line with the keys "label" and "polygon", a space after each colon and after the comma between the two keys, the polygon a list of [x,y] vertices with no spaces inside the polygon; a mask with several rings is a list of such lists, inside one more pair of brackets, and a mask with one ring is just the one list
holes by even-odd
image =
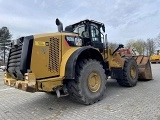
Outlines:
{"label": "scuffed yellow rear bumper and lower frame below the engine hood", "polygon": [[57,86],[63,85],[62,77],[48,78],[43,80],[36,80],[34,73],[26,73],[28,78],[25,80],[16,80],[9,75],[5,75],[4,84],[8,86],[15,86],[17,89],[21,89],[27,92],[36,91],[53,91]]}

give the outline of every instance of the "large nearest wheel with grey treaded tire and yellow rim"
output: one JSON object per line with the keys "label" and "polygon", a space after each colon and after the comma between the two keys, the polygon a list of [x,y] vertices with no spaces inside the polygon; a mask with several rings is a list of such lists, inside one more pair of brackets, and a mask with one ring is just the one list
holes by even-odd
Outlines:
{"label": "large nearest wheel with grey treaded tire and yellow rim", "polygon": [[106,89],[106,75],[100,62],[84,59],[76,66],[76,79],[68,80],[71,98],[82,104],[93,104],[102,99]]}

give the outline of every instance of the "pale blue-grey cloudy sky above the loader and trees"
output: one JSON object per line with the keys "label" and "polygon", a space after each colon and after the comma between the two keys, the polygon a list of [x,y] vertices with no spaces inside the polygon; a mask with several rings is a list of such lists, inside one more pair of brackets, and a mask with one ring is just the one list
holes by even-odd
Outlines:
{"label": "pale blue-grey cloudy sky above the loader and trees", "polygon": [[13,39],[56,32],[57,17],[64,26],[87,18],[103,22],[109,41],[125,43],[160,33],[160,0],[0,0],[0,27]]}

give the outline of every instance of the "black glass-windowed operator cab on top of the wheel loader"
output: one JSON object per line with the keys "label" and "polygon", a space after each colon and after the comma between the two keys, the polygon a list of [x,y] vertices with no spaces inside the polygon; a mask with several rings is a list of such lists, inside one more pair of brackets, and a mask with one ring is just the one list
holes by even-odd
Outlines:
{"label": "black glass-windowed operator cab on top of the wheel loader", "polygon": [[78,33],[83,38],[83,46],[91,45],[102,51],[104,49],[104,35],[101,29],[105,32],[103,23],[87,19],[67,26],[65,31]]}

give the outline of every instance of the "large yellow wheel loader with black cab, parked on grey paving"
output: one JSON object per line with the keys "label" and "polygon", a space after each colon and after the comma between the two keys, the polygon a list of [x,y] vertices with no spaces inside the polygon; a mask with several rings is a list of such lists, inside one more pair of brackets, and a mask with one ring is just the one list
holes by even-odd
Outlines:
{"label": "large yellow wheel loader with black cab, parked on grey paving", "polygon": [[[21,37],[11,44],[4,83],[27,92],[55,92],[58,97],[68,95],[82,104],[102,99],[108,76],[121,86],[137,84],[139,69],[149,77],[149,59],[137,63],[133,56],[121,56],[119,45],[111,50],[104,35],[105,25],[83,20],[63,25],[56,19],[57,33]],[[142,64],[141,64],[142,63]],[[148,64],[148,66],[146,66]]]}

